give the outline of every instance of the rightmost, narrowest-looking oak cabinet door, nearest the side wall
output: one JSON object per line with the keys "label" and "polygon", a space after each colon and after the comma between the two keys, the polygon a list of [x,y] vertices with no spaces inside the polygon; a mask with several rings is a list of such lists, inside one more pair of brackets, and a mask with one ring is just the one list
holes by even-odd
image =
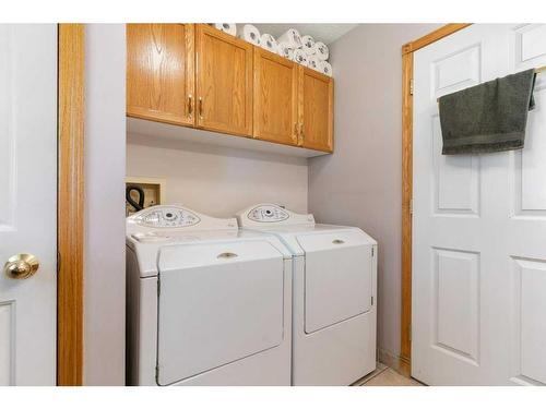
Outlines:
{"label": "rightmost, narrowest-looking oak cabinet door, nearest the side wall", "polygon": [[333,151],[333,80],[307,68],[300,68],[300,122],[302,146]]}

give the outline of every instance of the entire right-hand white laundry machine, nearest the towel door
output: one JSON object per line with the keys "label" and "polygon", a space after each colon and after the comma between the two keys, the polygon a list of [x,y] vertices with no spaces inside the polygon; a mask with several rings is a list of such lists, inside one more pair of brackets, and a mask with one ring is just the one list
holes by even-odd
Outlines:
{"label": "entire right-hand white laundry machine, nearest the towel door", "polygon": [[372,372],[377,242],[274,204],[237,218],[244,231],[273,233],[293,254],[293,385],[349,385]]}

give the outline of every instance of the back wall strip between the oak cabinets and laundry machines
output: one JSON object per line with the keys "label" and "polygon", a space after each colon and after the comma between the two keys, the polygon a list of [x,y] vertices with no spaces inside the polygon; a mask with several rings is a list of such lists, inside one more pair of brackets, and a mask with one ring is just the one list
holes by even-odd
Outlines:
{"label": "back wall strip between the oak cabinets and laundry machines", "polygon": [[167,203],[215,217],[260,202],[307,212],[305,158],[129,135],[127,175],[165,178]]}

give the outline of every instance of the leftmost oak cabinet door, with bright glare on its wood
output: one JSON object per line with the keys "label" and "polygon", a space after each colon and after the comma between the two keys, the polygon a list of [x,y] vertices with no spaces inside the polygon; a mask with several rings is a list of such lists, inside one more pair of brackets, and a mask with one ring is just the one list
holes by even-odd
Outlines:
{"label": "leftmost oak cabinet door, with bright glare on its wood", "polygon": [[127,115],[194,123],[193,24],[127,25]]}

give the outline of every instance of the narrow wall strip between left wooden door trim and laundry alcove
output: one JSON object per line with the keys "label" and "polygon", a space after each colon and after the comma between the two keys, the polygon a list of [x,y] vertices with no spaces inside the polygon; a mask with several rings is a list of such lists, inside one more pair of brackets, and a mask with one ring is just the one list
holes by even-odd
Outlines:
{"label": "narrow wall strip between left wooden door trim and laundry alcove", "polygon": [[124,384],[126,29],[85,27],[84,384]]}

